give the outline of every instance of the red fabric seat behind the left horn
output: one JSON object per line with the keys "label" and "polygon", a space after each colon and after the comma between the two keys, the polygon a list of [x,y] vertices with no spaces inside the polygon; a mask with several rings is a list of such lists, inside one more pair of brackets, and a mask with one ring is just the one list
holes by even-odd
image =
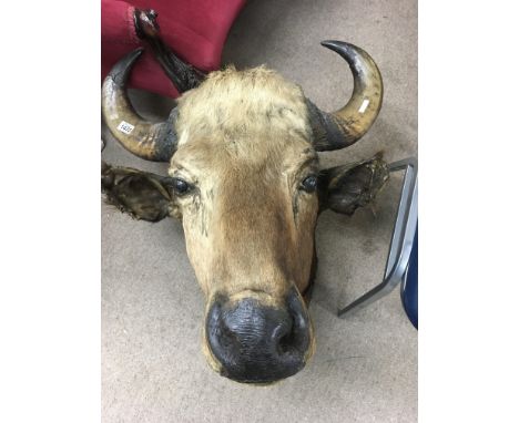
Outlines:
{"label": "red fabric seat behind the left horn", "polygon": [[[244,4],[245,0],[101,0],[101,78],[125,53],[143,45],[135,34],[134,8],[154,9],[164,42],[194,66],[213,71],[220,68],[227,32]],[[151,51],[135,64],[129,85],[179,96]]]}

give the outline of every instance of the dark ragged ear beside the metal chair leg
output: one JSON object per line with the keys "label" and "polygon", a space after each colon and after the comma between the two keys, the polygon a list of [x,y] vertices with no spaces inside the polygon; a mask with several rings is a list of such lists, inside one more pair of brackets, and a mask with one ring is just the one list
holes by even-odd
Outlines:
{"label": "dark ragged ear beside the metal chair leg", "polygon": [[389,178],[383,154],[319,173],[319,213],[329,208],[352,216],[358,207],[373,203]]}

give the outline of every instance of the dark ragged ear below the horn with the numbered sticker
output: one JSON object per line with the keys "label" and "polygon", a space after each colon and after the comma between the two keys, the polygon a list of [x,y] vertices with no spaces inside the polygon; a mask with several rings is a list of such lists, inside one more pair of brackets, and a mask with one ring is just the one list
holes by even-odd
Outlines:
{"label": "dark ragged ear below the horn with the numbered sticker", "polygon": [[101,190],[105,202],[136,219],[159,221],[176,216],[169,178],[101,162]]}

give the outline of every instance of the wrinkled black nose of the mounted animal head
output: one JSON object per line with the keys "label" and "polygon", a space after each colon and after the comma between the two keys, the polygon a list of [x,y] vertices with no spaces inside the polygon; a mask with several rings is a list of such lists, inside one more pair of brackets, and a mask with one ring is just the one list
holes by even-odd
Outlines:
{"label": "wrinkled black nose of the mounted animal head", "polygon": [[206,337],[222,374],[238,382],[268,383],[297,373],[309,347],[309,321],[299,297],[285,307],[264,306],[256,298],[220,298],[206,320]]}

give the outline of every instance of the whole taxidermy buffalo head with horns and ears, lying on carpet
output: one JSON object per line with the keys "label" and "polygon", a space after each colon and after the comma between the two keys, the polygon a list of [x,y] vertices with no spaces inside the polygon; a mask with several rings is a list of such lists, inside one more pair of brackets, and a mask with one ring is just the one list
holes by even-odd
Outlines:
{"label": "whole taxidermy buffalo head with horns and ears, lying on carpet", "polygon": [[326,113],[299,86],[257,68],[213,72],[184,93],[165,122],[136,114],[125,82],[142,50],[122,59],[102,89],[104,121],[131,153],[169,162],[169,176],[102,166],[109,203],[132,216],[182,220],[205,295],[204,352],[232,380],[271,383],[304,368],[315,349],[305,302],[316,265],[314,231],[326,208],[352,214],[387,179],[380,155],[319,169],[317,152],[347,147],[380,110],[372,58],[338,41],[354,91]]}

